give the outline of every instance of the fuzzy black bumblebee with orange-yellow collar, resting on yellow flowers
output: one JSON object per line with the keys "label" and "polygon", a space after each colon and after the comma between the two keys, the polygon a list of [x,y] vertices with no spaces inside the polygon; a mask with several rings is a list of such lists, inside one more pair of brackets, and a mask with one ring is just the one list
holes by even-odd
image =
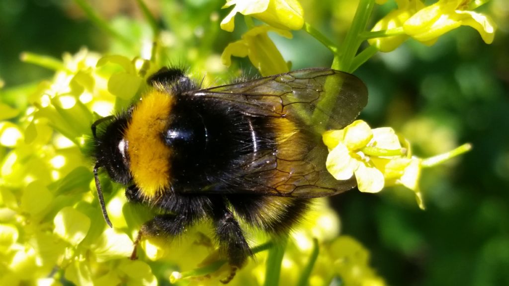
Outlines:
{"label": "fuzzy black bumblebee with orange-yellow collar, resting on yellow flowers", "polygon": [[148,83],[126,111],[92,125],[108,225],[100,169],[126,187],[129,202],[159,213],[141,227],[133,259],[143,237],[175,237],[209,219],[220,252],[238,268],[252,256],[238,219],[278,236],[312,198],[356,187],[355,178],[338,181],[326,170],[313,118],[327,129],[354,121],[367,103],[357,77],[317,68],[201,89],[182,69],[163,68]]}

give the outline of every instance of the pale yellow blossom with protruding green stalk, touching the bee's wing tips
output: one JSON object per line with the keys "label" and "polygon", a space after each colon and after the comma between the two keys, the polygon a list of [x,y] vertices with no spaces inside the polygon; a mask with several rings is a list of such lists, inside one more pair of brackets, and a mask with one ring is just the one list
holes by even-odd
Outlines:
{"label": "pale yellow blossom with protruding green stalk, touching the bee's wing tips", "polygon": [[385,186],[403,185],[415,192],[417,203],[424,208],[418,181],[422,167],[435,166],[470,150],[463,145],[435,157],[421,159],[412,156],[410,144],[390,127],[371,129],[362,120],[356,120],[342,130],[323,133],[329,148],[327,170],[337,180],[355,175],[361,192],[377,193]]}

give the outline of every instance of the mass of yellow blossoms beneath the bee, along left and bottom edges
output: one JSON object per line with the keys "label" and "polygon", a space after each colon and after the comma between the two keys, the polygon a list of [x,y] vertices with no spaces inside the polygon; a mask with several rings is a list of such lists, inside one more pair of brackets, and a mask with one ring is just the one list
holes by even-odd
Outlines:
{"label": "mass of yellow blossoms beneath the bee, along left and bottom edges", "polygon": [[[131,261],[133,239],[151,213],[141,209],[143,206],[126,204],[122,191],[108,195],[118,188],[106,178],[101,182],[114,228],[109,228],[102,217],[92,162],[83,155],[86,138],[91,135],[90,124],[97,114],[107,116],[139,96],[146,88],[146,76],[158,67],[148,61],[101,56],[86,49],[64,55],[62,62],[34,54],[25,54],[24,60],[50,61],[56,73],[52,80],[37,86],[27,109],[0,105],[5,111],[0,122],[0,284],[58,285],[70,281],[77,285],[156,285],[156,271],[162,279],[173,282],[216,284],[228,276],[229,267],[207,236],[212,230],[206,224],[197,225],[171,243],[145,239],[140,244],[140,259]],[[17,124],[8,121],[16,116]],[[365,255],[351,260],[349,253],[338,248],[343,243],[336,239],[339,226],[326,201],[317,201],[315,210],[289,240],[281,279],[297,282],[300,269],[308,267],[314,239],[318,239],[316,247],[336,250],[321,251],[317,265],[341,262],[342,266],[312,267],[315,270],[308,277],[311,285],[322,284],[334,275],[358,283],[372,278],[381,281]],[[268,240],[263,234],[250,237],[253,246]],[[358,243],[355,249],[366,253]],[[231,284],[262,284],[267,259],[267,251],[258,253],[257,260],[238,271]],[[166,262],[163,270],[158,270],[160,262]],[[362,269],[363,274],[352,276],[353,268]]]}

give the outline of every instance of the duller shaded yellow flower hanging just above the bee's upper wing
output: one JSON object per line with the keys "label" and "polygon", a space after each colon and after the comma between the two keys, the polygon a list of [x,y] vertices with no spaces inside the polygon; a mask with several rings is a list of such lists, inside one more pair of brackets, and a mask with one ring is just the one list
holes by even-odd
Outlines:
{"label": "duller shaded yellow flower hanging just above the bee's upper wing", "polygon": [[267,35],[269,31],[274,31],[287,38],[292,37],[292,34],[285,30],[267,25],[256,26],[242,35],[241,40],[228,44],[221,55],[222,63],[230,66],[232,55],[241,58],[249,56],[251,63],[263,76],[288,72],[285,59]]}

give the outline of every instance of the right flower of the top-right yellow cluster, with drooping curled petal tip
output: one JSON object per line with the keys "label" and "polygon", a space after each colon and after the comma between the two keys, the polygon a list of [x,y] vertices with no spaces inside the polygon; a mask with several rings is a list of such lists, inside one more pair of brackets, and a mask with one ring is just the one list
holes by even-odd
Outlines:
{"label": "right flower of the top-right yellow cluster, with drooping curled petal tip", "polygon": [[493,42],[495,23],[486,15],[465,10],[469,0],[439,0],[410,17],[403,29],[405,34],[427,44],[433,44],[441,35],[466,25],[471,26],[487,44]]}

